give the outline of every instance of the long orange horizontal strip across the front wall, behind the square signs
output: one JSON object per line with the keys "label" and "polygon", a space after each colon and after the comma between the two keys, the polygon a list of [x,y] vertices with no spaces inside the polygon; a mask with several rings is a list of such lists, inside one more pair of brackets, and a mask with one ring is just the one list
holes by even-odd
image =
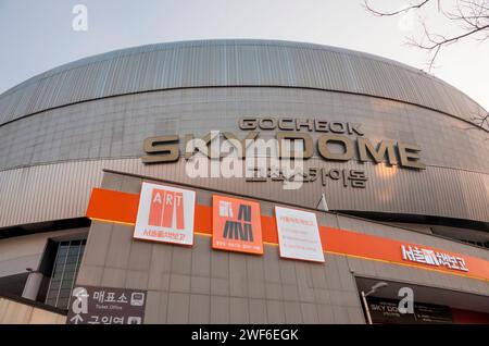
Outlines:
{"label": "long orange horizontal strip across the front wall, behind the square signs", "polygon": [[[90,202],[88,205],[87,218],[98,221],[136,224],[138,212],[139,195],[122,191],[93,188]],[[262,236],[265,244],[278,245],[277,225],[274,217],[262,215]],[[195,233],[212,235],[212,207],[196,205]],[[325,252],[340,254],[359,257],[368,260],[384,261],[394,264],[416,267],[426,270],[434,270],[447,274],[468,276],[477,280],[489,281],[489,261],[480,258],[453,254],[441,249],[435,249],[424,245],[400,242],[379,236],[356,233],[352,231],[339,230],[319,225],[319,235]],[[468,271],[455,270],[443,264],[435,265],[403,259],[404,247],[406,252],[425,250],[440,252],[443,256],[456,259],[461,258],[465,262]],[[426,252],[424,252],[426,254]],[[417,252],[419,255],[419,252]],[[409,258],[409,257],[408,257]],[[460,265],[457,263],[456,265]]]}

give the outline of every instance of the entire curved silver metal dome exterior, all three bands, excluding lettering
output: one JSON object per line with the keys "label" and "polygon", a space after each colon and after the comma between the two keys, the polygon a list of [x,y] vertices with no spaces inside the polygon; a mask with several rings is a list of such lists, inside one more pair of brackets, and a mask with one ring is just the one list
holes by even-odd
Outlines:
{"label": "entire curved silver metal dome exterior, all three bands, excluding lettering", "polygon": [[[0,201],[0,228],[83,217],[91,186],[100,184],[100,168],[158,170],[138,164],[145,138],[178,134],[183,141],[185,134],[199,137],[212,129],[243,138],[238,119],[250,115],[361,123],[365,137],[374,143],[394,139],[421,146],[426,171],[352,160],[349,168],[365,170],[369,176],[366,189],[311,184],[293,195],[305,206],[314,206],[323,190],[335,210],[487,224],[489,134],[469,122],[476,108],[460,91],[411,67],[314,45],[196,41],[84,59],[0,96],[0,151],[4,152],[0,191],[7,197]],[[319,135],[311,134],[315,139]],[[314,160],[306,164],[338,166]],[[164,176],[185,181],[180,164],[165,165]],[[396,178],[390,178],[392,172]],[[264,198],[291,198],[278,186],[263,189],[242,180],[201,183],[226,184],[240,193],[244,188]],[[64,184],[71,185],[72,193],[60,206],[48,196],[63,195]],[[45,198],[33,200],[32,191]],[[20,217],[21,205],[32,206],[33,213]]]}

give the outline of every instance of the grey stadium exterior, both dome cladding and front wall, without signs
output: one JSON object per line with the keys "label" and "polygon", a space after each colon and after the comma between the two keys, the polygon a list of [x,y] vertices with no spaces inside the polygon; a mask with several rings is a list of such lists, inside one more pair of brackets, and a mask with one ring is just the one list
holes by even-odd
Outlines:
{"label": "grey stadium exterior, both dome cladding and front wall, without signs", "polygon": [[[317,212],[319,224],[489,260],[487,249],[431,234],[442,224],[456,239],[476,233],[489,242],[489,129],[474,122],[485,112],[426,73],[317,45],[190,41],[83,59],[0,95],[0,249],[9,248],[0,254],[0,272],[36,268],[42,244],[73,231],[7,239],[2,232],[36,233],[36,225],[46,232],[52,222],[84,219],[93,187],[138,194],[142,181],[159,180],[190,185],[203,205],[215,189],[255,198],[268,215],[274,203],[314,209],[324,193],[335,212]],[[358,152],[348,162],[326,161],[315,146],[306,169],[363,170],[366,187],[316,181],[286,190],[278,182],[190,178],[184,158],[141,162],[145,138],[178,135],[183,156],[186,134],[244,138],[249,132],[238,126],[243,116],[359,123],[373,143],[418,145],[426,170],[360,162]],[[322,135],[300,132],[314,144]],[[274,136],[260,132],[260,138]],[[227,254],[212,250],[204,236],[192,248],[150,244],[134,240],[133,228],[92,221],[76,283],[148,289],[147,323],[363,323],[355,277],[455,292],[462,301],[456,308],[489,312],[480,309],[489,295],[485,281],[337,254],[326,254],[325,264],[294,262],[268,245],[263,257]],[[449,297],[441,305],[451,300],[450,294],[440,297]]]}

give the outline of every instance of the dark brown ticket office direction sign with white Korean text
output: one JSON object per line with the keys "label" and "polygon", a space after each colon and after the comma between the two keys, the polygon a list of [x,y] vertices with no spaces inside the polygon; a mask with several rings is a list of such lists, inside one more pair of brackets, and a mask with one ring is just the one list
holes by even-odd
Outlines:
{"label": "dark brown ticket office direction sign with white Korean text", "polygon": [[146,291],[77,286],[66,324],[142,324]]}

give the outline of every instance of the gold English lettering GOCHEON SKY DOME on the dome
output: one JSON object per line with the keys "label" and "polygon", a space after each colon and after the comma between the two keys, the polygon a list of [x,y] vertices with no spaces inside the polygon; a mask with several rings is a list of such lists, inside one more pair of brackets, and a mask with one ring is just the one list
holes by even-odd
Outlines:
{"label": "gold English lettering GOCHEON SKY DOME on the dome", "polygon": [[[364,138],[361,124],[349,122],[329,122],[317,119],[292,119],[292,118],[243,118],[239,120],[239,129],[248,131],[243,139],[238,138],[236,134],[225,132],[224,138],[233,140],[233,146],[238,148],[238,157],[244,159],[246,148],[260,139],[260,131],[275,131],[276,139],[280,146],[283,139],[301,140],[304,149],[301,159],[308,160],[314,156],[313,137],[309,134],[317,133],[317,153],[318,157],[327,161],[347,162],[352,160],[358,152],[360,162],[371,161],[374,164],[385,162],[388,165],[399,165],[399,168],[425,170],[426,164],[421,162],[421,147],[415,144],[394,141],[392,139],[380,139],[378,143],[372,143]],[[306,132],[308,133],[306,133]],[[214,137],[212,135],[214,134]],[[323,134],[326,133],[326,134]],[[349,136],[356,136],[351,138]],[[185,136],[185,159],[190,159],[196,150],[205,151],[209,158],[222,158],[224,155],[210,150],[211,141],[214,138],[221,138],[218,131],[210,132],[200,140],[201,148],[189,146],[195,138],[193,134]],[[248,143],[247,143],[248,141]],[[142,163],[166,163],[178,161],[180,156],[178,135],[158,136],[145,139],[143,150],[147,156],[141,158]],[[239,144],[239,145],[238,145]],[[333,144],[342,147],[340,152],[333,150],[329,146]],[[281,148],[279,158],[284,158]],[[296,153],[291,156],[296,157]],[[399,157],[399,159],[398,159]],[[287,158],[287,157],[286,157]]]}

